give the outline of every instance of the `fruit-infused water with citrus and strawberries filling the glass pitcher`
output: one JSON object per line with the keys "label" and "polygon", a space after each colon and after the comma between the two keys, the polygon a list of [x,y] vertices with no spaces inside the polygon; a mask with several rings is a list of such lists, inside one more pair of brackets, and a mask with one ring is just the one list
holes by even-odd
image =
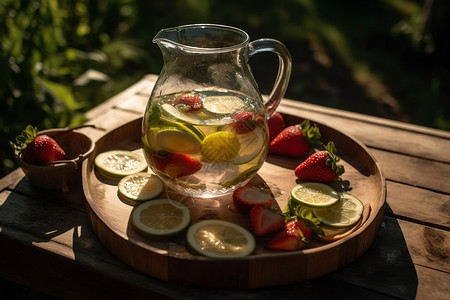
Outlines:
{"label": "fruit-infused water with citrus and strawberries filling the glass pitcher", "polygon": [[142,126],[151,169],[168,186],[198,197],[245,185],[268,151],[265,110],[258,103],[210,90],[153,98]]}

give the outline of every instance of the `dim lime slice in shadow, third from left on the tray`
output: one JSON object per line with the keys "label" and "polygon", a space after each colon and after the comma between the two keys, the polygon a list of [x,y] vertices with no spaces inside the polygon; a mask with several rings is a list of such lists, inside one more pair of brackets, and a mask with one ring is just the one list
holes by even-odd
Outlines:
{"label": "dim lime slice in shadow, third from left on the tray", "polygon": [[135,229],[153,237],[170,237],[183,232],[191,223],[189,208],[171,199],[143,202],[131,211]]}

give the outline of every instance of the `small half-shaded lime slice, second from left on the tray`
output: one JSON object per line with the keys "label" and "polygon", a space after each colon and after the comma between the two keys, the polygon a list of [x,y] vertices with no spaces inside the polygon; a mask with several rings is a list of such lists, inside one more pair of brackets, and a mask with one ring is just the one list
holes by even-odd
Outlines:
{"label": "small half-shaded lime slice, second from left on the tray", "polygon": [[156,175],[138,173],[122,178],[118,184],[119,193],[133,201],[146,201],[158,197],[164,184]]}

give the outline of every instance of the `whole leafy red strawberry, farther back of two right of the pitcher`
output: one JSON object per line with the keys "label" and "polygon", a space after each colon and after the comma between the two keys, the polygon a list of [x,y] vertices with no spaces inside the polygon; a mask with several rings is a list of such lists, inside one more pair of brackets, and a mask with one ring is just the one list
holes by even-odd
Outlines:
{"label": "whole leafy red strawberry, farther back of two right of the pitcher", "polygon": [[298,157],[308,153],[310,145],[320,145],[320,131],[316,124],[310,126],[309,120],[286,127],[271,142],[269,151]]}

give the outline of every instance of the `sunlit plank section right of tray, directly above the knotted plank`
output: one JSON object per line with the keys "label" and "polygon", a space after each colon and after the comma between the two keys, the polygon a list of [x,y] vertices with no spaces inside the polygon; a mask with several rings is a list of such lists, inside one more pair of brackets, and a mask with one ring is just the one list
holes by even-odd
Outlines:
{"label": "sunlit plank section right of tray, directly above the knotted plank", "polygon": [[386,215],[450,229],[449,195],[393,181],[386,185]]}

